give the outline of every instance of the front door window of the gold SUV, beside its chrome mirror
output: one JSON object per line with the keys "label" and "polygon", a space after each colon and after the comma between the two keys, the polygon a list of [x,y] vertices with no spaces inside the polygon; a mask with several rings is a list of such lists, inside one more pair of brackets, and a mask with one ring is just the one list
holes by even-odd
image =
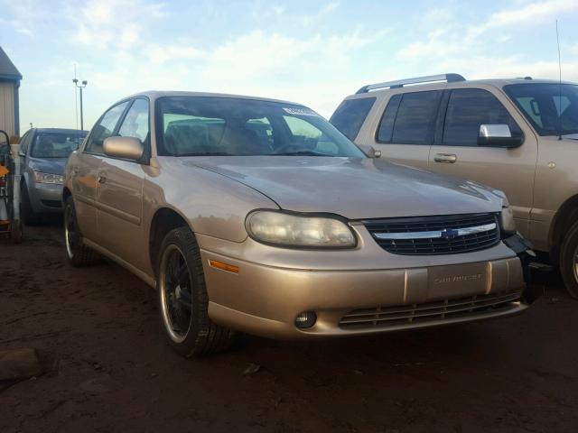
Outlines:
{"label": "front door window of the gold SUV, beside its chrome mirror", "polygon": [[480,88],[452,90],[443,125],[443,144],[477,146],[480,124],[508,124],[512,137],[522,130],[497,97]]}

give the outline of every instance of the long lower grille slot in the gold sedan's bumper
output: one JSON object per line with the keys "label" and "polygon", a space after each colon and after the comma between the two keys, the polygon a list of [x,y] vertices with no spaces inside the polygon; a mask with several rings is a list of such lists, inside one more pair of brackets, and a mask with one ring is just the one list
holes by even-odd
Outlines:
{"label": "long lower grille slot in the gold sedan's bumper", "polygon": [[342,328],[394,327],[418,322],[482,316],[516,307],[519,290],[489,295],[475,295],[460,299],[443,299],[424,304],[400,305],[377,309],[356,309],[340,319]]}

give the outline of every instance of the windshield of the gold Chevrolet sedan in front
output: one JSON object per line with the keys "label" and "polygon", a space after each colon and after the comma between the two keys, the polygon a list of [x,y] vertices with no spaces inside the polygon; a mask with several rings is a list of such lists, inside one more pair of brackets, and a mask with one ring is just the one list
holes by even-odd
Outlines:
{"label": "windshield of the gold Chevrolet sedan in front", "polygon": [[280,102],[163,97],[156,102],[156,124],[159,155],[366,158],[322,116]]}

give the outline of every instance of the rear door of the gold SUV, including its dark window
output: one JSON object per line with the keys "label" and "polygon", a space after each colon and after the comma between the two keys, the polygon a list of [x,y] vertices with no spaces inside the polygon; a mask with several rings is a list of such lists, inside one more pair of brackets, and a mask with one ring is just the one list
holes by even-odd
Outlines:
{"label": "rear door of the gold SUV, including its dark window", "polygon": [[442,90],[392,95],[371,145],[382,158],[427,168]]}

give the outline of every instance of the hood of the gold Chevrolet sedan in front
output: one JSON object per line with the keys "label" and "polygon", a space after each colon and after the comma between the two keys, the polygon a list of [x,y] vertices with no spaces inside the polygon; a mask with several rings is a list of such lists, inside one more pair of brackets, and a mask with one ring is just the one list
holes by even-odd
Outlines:
{"label": "hood of the gold Chevrolet sedan in front", "polygon": [[287,210],[350,219],[498,212],[503,196],[469,180],[372,159],[250,156],[185,158],[265,194]]}

